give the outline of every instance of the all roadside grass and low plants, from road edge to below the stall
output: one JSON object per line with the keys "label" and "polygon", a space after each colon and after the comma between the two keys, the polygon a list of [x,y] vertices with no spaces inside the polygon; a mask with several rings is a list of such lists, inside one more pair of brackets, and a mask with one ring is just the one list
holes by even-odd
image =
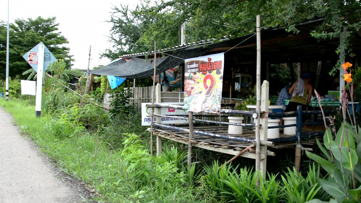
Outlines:
{"label": "all roadside grass and low plants, from road edge to below the stall", "polygon": [[[116,124],[96,123],[97,115],[101,119],[109,117],[93,107],[73,105],[56,118],[45,113],[35,117],[30,103],[0,98],[0,106],[13,116],[21,132],[66,174],[94,189],[99,202],[266,203],[329,199],[317,182],[321,174],[314,165],[308,164],[306,178],[291,169],[278,171],[277,175],[270,173],[261,179],[261,190],[256,185],[257,172],[235,163],[218,169],[217,158],[224,161],[224,157],[208,154],[210,151],[204,153],[211,161],[202,158],[191,168],[186,165],[187,152],[182,146],[173,146],[174,142],[165,142],[169,147],[162,156],[151,156],[149,135],[136,116],[125,116]],[[91,123],[87,129],[86,123]],[[193,152],[197,155],[197,150]]]}

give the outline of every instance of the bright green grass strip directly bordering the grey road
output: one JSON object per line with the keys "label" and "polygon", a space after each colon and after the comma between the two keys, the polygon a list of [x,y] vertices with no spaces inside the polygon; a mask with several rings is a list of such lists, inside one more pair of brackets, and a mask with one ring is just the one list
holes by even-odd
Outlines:
{"label": "bright green grass strip directly bordering the grey road", "polygon": [[0,106],[58,167],[95,189],[100,202],[197,202],[191,187],[183,186],[183,171],[149,156],[135,134],[125,136],[122,150],[109,151],[96,134],[59,136],[68,126],[47,116],[36,118],[26,101],[0,99]]}

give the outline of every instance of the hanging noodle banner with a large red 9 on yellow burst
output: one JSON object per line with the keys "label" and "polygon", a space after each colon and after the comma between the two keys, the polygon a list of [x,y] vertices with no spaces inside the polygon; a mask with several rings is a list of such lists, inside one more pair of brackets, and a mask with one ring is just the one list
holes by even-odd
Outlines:
{"label": "hanging noodle banner with a large red 9 on yellow burst", "polygon": [[184,60],[184,110],[219,113],[224,53]]}

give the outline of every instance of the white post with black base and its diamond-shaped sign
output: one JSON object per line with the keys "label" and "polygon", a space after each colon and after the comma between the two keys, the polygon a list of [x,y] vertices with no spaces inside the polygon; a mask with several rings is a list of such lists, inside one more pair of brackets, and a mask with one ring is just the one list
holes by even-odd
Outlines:
{"label": "white post with black base and its diamond-shaped sign", "polygon": [[23,58],[37,72],[35,115],[40,117],[42,112],[43,74],[48,69],[48,66],[56,61],[56,58],[42,42],[24,54]]}

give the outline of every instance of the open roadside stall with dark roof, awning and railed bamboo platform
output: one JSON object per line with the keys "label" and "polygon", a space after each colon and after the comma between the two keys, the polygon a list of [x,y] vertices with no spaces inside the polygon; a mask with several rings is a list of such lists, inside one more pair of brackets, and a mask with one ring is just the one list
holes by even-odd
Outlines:
{"label": "open roadside stall with dark roof, awning and railed bamboo platform", "polygon": [[[188,144],[188,163],[191,162],[192,147],[200,147],[226,154],[233,154],[235,155],[235,157],[244,156],[256,159],[256,169],[260,169],[261,172],[264,174],[266,171],[267,155],[275,155],[275,153],[273,153],[271,150],[286,147],[296,147],[297,160],[295,160],[295,164],[296,168],[297,164],[299,168],[301,149],[307,150],[307,147],[301,146],[302,138],[312,138],[316,137],[317,135],[323,135],[322,132],[302,132],[301,126],[303,124],[301,123],[301,119],[299,118],[302,117],[302,113],[317,114],[319,112],[302,112],[302,110],[299,109],[299,111],[297,112],[269,113],[268,100],[270,83],[264,81],[261,89],[261,77],[265,79],[268,78],[269,73],[267,72],[267,64],[270,63],[289,62],[291,66],[290,72],[292,75],[292,73],[294,73],[292,72],[293,62],[299,62],[301,65],[306,64],[306,66],[302,66],[300,71],[310,71],[309,67],[311,67],[313,61],[316,62],[316,64],[317,61],[320,60],[330,60],[335,62],[335,59],[338,58],[338,55],[336,55],[334,51],[339,46],[339,41],[337,39],[333,39],[327,41],[321,40],[321,42],[317,42],[317,40],[313,39],[309,34],[309,31],[312,30],[315,26],[317,26],[320,21],[322,21],[322,19],[316,19],[314,21],[300,23],[296,26],[298,29],[300,29],[299,34],[287,33],[284,28],[268,29],[262,31],[262,51],[260,48],[260,26],[257,25],[256,34],[251,34],[236,39],[229,39],[228,37],[225,37],[221,39],[221,42],[218,43],[212,43],[212,41],[209,40],[200,42],[198,44],[184,44],[174,47],[173,49],[156,50],[155,48],[155,52],[153,53],[124,55],[122,56],[123,59],[130,58],[130,60],[124,62],[121,59],[119,60],[120,64],[118,65],[109,64],[90,73],[100,75],[109,74],[132,79],[145,78],[153,75],[153,77],[155,78],[156,75],[160,75],[172,67],[184,64],[184,59],[191,59],[197,56],[224,52],[224,65],[228,64],[229,61],[239,61],[241,67],[253,67],[253,69],[249,68],[248,71],[252,72],[252,77],[256,76],[254,81],[257,81],[257,108],[256,111],[239,111],[217,108],[217,111],[219,111],[217,112],[217,115],[225,114],[227,116],[253,116],[256,122],[254,124],[236,124],[232,122],[217,122],[212,120],[198,119],[197,114],[193,112],[184,113],[184,110],[188,110],[189,107],[188,106],[186,109],[184,109],[184,101],[182,101],[183,105],[164,104],[166,102],[169,102],[168,99],[172,100],[171,102],[180,102],[182,100],[182,93],[184,94],[184,92],[162,92],[160,84],[158,84],[157,86],[155,86],[154,84],[152,91],[154,96],[152,95],[151,103],[146,105],[145,108],[154,109],[154,111],[149,111],[148,117],[150,119],[147,120],[150,122],[151,125],[151,128],[149,128],[149,131],[151,132],[151,138],[153,138],[153,134],[156,135],[157,153],[161,153],[161,138],[167,138],[176,142]],[[258,36],[256,37],[256,35]],[[319,47],[321,46],[321,44],[323,44],[322,48],[325,48],[325,50],[323,50],[322,52],[319,51]],[[360,45],[360,40],[356,40],[354,44],[356,46],[357,44]],[[255,48],[257,48],[257,57],[255,57]],[[262,60],[260,57],[261,53]],[[139,59],[139,57],[145,56],[148,56],[149,59]],[[352,60],[359,61],[360,59],[355,58]],[[230,81],[232,80],[232,73],[234,71],[238,72],[238,69],[233,69],[233,67],[230,68],[230,65],[226,66],[227,67],[225,67],[224,69],[222,79],[223,81]],[[254,69],[255,66],[256,69]],[[265,67],[264,69],[262,69],[265,70],[264,72],[261,72],[261,66]],[[240,70],[240,72],[245,70]],[[326,72],[327,69],[323,71]],[[186,73],[185,69],[183,69],[183,73]],[[186,77],[186,75],[184,77]],[[182,78],[182,81],[184,81],[184,78]],[[223,83],[223,85],[224,84],[225,83]],[[225,91],[225,89],[223,89],[223,91]],[[222,95],[224,93],[223,91]],[[185,90],[185,92],[187,91]],[[226,95],[231,95],[232,88],[230,88],[230,91],[228,93],[227,91],[225,92]],[[230,100],[232,100],[231,96]],[[222,105],[221,102],[219,102],[219,105]],[[228,104],[225,105],[227,106]],[[173,109],[175,111],[175,109],[178,109],[183,111],[183,113],[181,115],[166,115],[162,113],[161,109],[168,109],[169,111],[173,111]],[[186,116],[184,116],[184,114],[186,114]],[[273,127],[270,127],[268,125],[270,121],[269,117],[295,116],[297,117],[296,124]],[[168,121],[172,119],[183,119],[188,121],[188,124],[181,124],[177,126],[173,124],[163,124],[161,122],[162,119]],[[202,126],[200,125],[200,123],[203,123],[204,125]],[[228,132],[226,132],[228,128],[228,126],[226,125],[242,126],[244,128],[243,134],[229,134]],[[284,135],[281,131],[279,134],[279,138],[267,138],[269,129],[287,127],[296,127],[297,130],[293,135]],[[153,147],[151,151],[153,152]]]}

